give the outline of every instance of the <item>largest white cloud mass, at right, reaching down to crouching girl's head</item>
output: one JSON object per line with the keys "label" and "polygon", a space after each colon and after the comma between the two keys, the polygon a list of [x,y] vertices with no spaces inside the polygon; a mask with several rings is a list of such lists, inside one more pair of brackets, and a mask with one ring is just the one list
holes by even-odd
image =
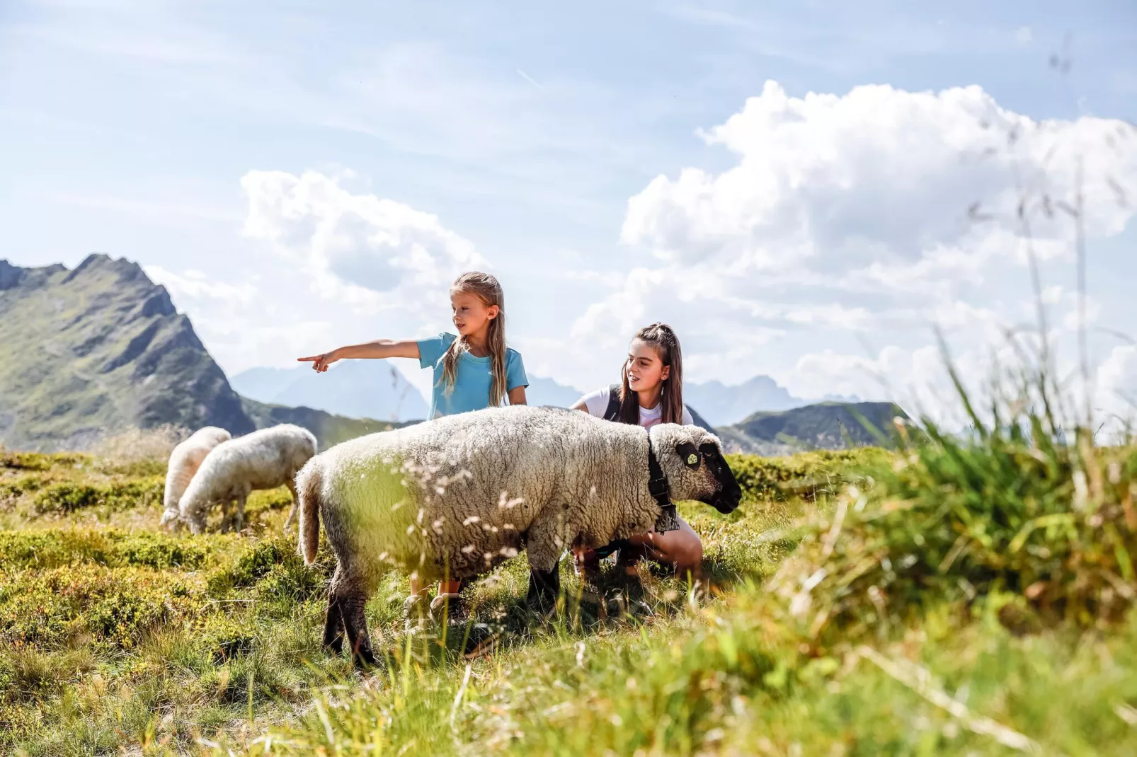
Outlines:
{"label": "largest white cloud mass, at right, reaching down to crouching girl's head", "polygon": [[[896,396],[943,375],[933,325],[987,375],[1009,330],[1035,322],[1028,252],[1068,273],[1079,190],[1090,243],[1134,213],[1129,124],[1037,122],[979,86],[798,98],[767,82],[699,135],[735,164],[657,176],[629,200],[621,241],[640,257],[573,327],[621,341],[664,317],[698,343],[694,380],[771,373],[798,396],[881,397],[886,376]],[[1044,283],[1061,338],[1073,294]]]}

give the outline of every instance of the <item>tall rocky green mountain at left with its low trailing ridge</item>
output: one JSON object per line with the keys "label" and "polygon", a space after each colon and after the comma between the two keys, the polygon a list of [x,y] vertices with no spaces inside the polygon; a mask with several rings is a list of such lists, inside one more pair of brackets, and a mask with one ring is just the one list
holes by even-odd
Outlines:
{"label": "tall rocky green mountain at left with its low trailing ridge", "polygon": [[296,423],[322,449],[390,423],[240,397],[164,286],[91,255],[75,269],[0,260],[0,444],[83,449],[127,427]]}

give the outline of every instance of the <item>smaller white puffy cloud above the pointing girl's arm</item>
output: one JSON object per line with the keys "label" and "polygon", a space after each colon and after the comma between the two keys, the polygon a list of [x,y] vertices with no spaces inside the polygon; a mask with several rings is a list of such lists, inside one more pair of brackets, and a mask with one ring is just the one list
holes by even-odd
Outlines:
{"label": "smaller white puffy cloud above the pointing girl's arm", "polygon": [[437,216],[321,173],[251,170],[241,186],[246,235],[299,266],[321,294],[365,311],[437,307],[457,274],[484,263]]}

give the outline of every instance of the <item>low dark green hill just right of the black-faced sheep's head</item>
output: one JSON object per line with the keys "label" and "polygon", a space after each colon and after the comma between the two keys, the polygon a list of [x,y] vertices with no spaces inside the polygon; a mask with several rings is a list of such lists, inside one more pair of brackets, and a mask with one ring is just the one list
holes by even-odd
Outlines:
{"label": "low dark green hill just right of the black-faced sheep's head", "polygon": [[719,429],[731,449],[783,455],[799,449],[845,449],[878,444],[865,423],[890,436],[893,418],[907,414],[893,402],[819,402],[779,413],[755,413],[741,423]]}

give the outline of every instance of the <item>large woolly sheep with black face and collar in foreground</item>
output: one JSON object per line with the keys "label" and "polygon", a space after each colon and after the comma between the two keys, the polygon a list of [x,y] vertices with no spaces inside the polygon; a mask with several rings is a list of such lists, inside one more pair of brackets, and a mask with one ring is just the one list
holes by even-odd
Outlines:
{"label": "large woolly sheep with black face and collar in foreground", "polygon": [[525,549],[526,601],[554,607],[565,548],[669,530],[669,488],[724,514],[741,497],[703,429],[562,408],[489,408],[338,444],[297,474],[305,563],[321,518],[337,559],[323,643],[339,654],[346,632],[356,664],[374,664],[364,605],[384,564],[420,582],[470,579]]}

